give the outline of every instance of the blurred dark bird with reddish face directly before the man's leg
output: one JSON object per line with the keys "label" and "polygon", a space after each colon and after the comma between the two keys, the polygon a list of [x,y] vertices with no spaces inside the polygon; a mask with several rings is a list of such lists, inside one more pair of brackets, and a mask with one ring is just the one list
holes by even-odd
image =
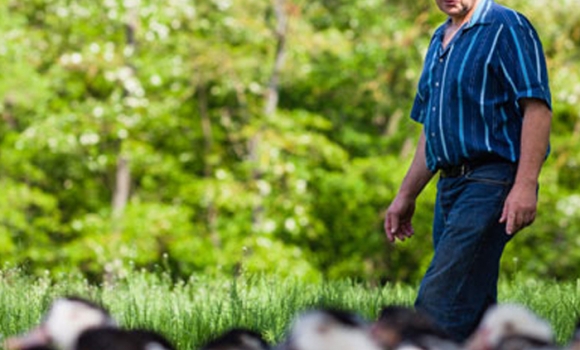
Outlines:
{"label": "blurred dark bird with reddish face directly before the man's leg", "polygon": [[383,350],[459,349],[426,315],[405,306],[383,307],[371,333]]}

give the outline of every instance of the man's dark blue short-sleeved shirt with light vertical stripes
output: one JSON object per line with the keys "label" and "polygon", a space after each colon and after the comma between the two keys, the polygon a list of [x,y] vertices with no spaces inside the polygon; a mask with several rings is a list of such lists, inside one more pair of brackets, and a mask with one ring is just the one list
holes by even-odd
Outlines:
{"label": "man's dark blue short-sleeved shirt with light vertical stripes", "polygon": [[435,171],[495,155],[517,161],[521,98],[551,109],[541,42],[521,14],[481,0],[443,48],[450,19],[434,33],[411,118],[423,124],[427,167]]}

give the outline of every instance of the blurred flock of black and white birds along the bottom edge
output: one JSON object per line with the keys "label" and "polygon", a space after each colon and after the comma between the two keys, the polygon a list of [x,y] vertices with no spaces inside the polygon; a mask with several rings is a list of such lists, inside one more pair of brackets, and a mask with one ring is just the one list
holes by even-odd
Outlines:
{"label": "blurred flock of black and white birds along the bottom edge", "polygon": [[[41,323],[4,342],[7,350],[176,350],[162,334],[124,329],[100,305],[79,297],[55,299]],[[518,304],[498,304],[464,343],[454,342],[429,320],[404,306],[384,307],[367,321],[356,313],[311,309],[299,313],[280,344],[234,328],[200,350],[580,350],[580,324],[565,345],[551,325]]]}

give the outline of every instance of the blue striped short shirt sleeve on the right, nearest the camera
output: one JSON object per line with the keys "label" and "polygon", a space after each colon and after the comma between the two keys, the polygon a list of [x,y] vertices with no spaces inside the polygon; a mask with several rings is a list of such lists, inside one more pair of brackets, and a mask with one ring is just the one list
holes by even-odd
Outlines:
{"label": "blue striped short shirt sleeve on the right, nearest the camera", "polygon": [[518,14],[518,24],[503,28],[498,51],[506,85],[516,100],[536,98],[552,109],[542,43],[524,16]]}

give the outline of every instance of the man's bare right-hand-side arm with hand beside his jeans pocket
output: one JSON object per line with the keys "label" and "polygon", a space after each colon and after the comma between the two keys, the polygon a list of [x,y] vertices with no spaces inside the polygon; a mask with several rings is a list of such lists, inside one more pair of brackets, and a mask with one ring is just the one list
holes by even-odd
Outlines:
{"label": "man's bare right-hand-side arm with hand beside his jeans pocket", "polygon": [[536,218],[538,178],[548,150],[552,120],[552,112],[543,101],[522,99],[520,103],[524,110],[520,160],[500,218],[510,235]]}

